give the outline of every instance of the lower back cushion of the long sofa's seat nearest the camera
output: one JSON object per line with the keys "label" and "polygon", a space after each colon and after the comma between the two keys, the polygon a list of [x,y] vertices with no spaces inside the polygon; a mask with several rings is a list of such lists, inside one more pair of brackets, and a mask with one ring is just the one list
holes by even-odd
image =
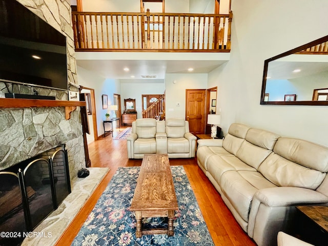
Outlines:
{"label": "lower back cushion of the long sofa's seat nearest the camera", "polygon": [[325,177],[325,173],[303,167],[275,153],[271,153],[262,162],[258,171],[277,186],[300,187],[312,190],[317,189]]}

